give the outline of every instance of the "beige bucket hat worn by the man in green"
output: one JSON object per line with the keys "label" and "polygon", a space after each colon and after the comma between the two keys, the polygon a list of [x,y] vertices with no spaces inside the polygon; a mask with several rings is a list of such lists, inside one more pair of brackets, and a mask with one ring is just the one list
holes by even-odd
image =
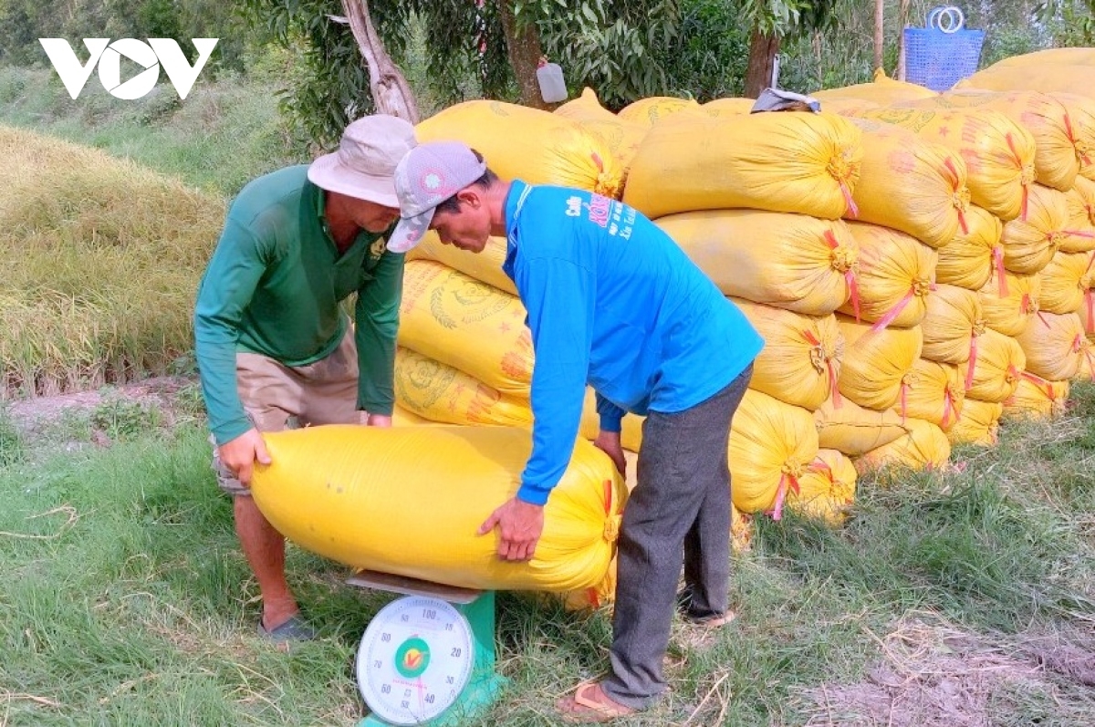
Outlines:
{"label": "beige bucket hat worn by the man in green", "polygon": [[346,127],[337,151],[312,162],[308,178],[328,192],[397,208],[395,165],[416,145],[408,122],[387,114],[366,116]]}

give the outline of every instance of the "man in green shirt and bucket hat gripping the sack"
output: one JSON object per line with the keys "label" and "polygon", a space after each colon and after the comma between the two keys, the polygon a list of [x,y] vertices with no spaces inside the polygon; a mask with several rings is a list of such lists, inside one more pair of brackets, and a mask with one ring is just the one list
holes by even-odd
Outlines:
{"label": "man in green shirt and bucket hat gripping the sack", "polygon": [[[309,424],[391,426],[403,255],[392,174],[414,127],[376,115],[338,150],[247,184],[233,200],[198,289],[195,349],[235,530],[263,599],[260,634],[311,638],[285,577],[285,538],[255,506],[261,431]],[[353,293],[355,325],[341,303]]]}

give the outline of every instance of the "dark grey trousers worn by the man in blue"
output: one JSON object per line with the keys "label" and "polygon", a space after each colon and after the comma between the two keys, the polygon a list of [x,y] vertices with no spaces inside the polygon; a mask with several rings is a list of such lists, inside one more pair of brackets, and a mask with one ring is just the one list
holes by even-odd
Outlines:
{"label": "dark grey trousers worn by the man in blue", "polygon": [[652,412],[643,423],[637,484],[627,500],[616,555],[612,676],[604,692],[644,708],[666,690],[677,584],[684,558],[690,615],[727,610],[730,582],[730,420],[752,376],[690,409]]}

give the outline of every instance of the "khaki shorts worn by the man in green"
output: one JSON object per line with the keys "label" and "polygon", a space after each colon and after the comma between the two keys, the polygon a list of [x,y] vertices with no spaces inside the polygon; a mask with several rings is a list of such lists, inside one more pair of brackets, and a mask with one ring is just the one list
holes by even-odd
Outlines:
{"label": "khaki shorts worn by the man in green", "polygon": [[[261,354],[235,355],[235,381],[247,418],[258,431],[281,431],[320,424],[361,424],[357,408],[357,347],[347,331],[326,358],[308,366],[285,366]],[[251,496],[220,462],[214,443],[217,484],[229,495]]]}

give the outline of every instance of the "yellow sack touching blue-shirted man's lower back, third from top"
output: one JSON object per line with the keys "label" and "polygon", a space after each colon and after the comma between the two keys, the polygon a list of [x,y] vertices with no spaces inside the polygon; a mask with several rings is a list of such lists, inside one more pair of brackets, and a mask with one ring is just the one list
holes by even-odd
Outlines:
{"label": "yellow sack touching blue-shirted man's lower back, third from top", "polygon": [[804,315],[742,298],[733,300],[764,339],[764,349],[753,361],[750,389],[808,409],[829,399],[837,389],[844,351],[832,314]]}

